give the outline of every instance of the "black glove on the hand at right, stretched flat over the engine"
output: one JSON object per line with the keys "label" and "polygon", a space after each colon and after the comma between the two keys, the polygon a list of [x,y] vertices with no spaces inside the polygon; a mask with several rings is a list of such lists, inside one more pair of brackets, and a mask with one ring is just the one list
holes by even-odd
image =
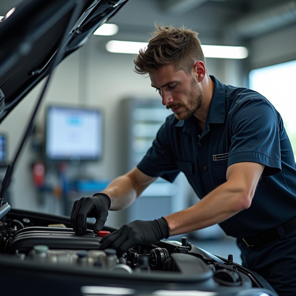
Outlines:
{"label": "black glove on the hand at right, stretched flat over the engine", "polygon": [[100,250],[115,249],[120,257],[130,247],[138,244],[153,244],[160,239],[168,238],[169,235],[168,222],[163,217],[153,221],[136,220],[105,235],[100,241]]}

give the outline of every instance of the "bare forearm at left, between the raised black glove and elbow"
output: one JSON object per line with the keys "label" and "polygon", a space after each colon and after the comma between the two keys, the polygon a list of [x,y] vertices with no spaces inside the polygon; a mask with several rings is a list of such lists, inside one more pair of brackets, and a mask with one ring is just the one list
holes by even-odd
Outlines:
{"label": "bare forearm at left, between the raised black glove and elbow", "polygon": [[137,197],[131,178],[126,175],[113,180],[102,192],[110,197],[109,210],[113,211],[128,207]]}

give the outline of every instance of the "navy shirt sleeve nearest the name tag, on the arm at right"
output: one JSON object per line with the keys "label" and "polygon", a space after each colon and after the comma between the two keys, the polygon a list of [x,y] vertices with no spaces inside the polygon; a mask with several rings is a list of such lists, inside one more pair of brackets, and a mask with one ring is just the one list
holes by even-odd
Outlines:
{"label": "navy shirt sleeve nearest the name tag, on the arm at right", "polygon": [[248,98],[238,104],[231,133],[228,166],[250,161],[265,165],[262,176],[281,172],[279,124],[265,99]]}

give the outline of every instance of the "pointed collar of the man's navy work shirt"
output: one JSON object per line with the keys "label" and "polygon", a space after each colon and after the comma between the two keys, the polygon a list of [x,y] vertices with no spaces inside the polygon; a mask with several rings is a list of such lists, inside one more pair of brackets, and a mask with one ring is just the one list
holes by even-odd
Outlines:
{"label": "pointed collar of the man's navy work shirt", "polygon": [[[223,123],[225,120],[225,86],[213,75],[210,75],[210,78],[215,83],[215,88],[210,104],[210,109],[207,114],[206,122],[208,123]],[[189,123],[192,120],[178,120],[175,126],[180,127],[184,126],[185,123]]]}

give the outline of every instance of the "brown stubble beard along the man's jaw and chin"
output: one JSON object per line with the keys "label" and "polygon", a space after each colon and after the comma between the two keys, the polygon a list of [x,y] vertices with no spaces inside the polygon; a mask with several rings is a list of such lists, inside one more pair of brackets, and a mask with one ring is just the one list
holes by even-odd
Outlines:
{"label": "brown stubble beard along the man's jaw and chin", "polygon": [[181,104],[181,106],[185,107],[185,110],[174,113],[178,120],[189,119],[203,104],[203,91],[193,77],[190,85],[191,91],[189,93],[187,104]]}

